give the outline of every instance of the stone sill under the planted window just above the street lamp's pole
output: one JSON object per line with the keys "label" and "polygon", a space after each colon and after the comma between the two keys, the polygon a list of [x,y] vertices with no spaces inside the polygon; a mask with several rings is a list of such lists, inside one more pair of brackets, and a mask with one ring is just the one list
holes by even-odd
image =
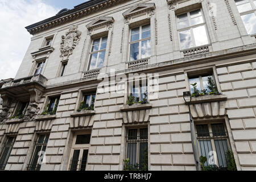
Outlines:
{"label": "stone sill under the planted window just above the street lamp's pole", "polygon": [[211,96],[199,96],[192,97],[191,104],[201,104],[205,102],[218,102],[218,101],[226,101],[228,99],[225,95],[211,95]]}

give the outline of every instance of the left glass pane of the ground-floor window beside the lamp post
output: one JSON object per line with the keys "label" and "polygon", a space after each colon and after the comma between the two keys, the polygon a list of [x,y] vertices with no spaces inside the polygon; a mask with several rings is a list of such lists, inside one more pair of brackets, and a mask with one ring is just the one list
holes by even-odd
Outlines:
{"label": "left glass pane of the ground-floor window beside the lamp post", "polygon": [[[210,143],[210,140],[199,140],[199,150],[200,155],[207,157],[207,162],[204,163],[204,166],[213,165],[215,164],[214,160],[210,161],[210,157],[212,156],[212,143]],[[211,164],[210,164],[210,163]]]}

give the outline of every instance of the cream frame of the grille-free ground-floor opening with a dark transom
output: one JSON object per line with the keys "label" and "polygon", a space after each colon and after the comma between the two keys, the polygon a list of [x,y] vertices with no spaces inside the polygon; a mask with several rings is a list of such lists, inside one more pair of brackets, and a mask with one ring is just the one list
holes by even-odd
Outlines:
{"label": "cream frame of the grille-free ground-floor opening with a dark transom", "polygon": [[[92,134],[92,129],[86,129],[86,130],[71,130],[71,135],[69,135],[69,139],[72,140],[71,142],[69,142],[68,146],[70,146],[70,150],[67,153],[68,156],[64,156],[65,158],[67,158],[68,160],[68,166],[67,166],[67,171],[69,171],[70,169],[70,164],[71,164],[71,158],[73,155],[73,151],[74,149],[87,149],[89,151],[90,149],[90,143],[89,144],[75,144],[76,143],[76,137],[77,135],[82,135],[82,134]],[[90,140],[92,140],[92,135],[90,136]],[[88,156],[89,156],[89,152],[88,152]],[[87,166],[87,163],[86,163]],[[86,171],[86,169],[85,169]]]}

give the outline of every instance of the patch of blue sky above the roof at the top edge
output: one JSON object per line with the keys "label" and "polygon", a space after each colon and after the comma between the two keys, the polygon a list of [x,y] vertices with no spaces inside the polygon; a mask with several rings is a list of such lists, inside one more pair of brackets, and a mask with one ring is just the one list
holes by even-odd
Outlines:
{"label": "patch of blue sky above the roof at the top edge", "polygon": [[73,9],[74,6],[86,2],[87,0],[43,0],[48,5],[52,5],[57,9]]}

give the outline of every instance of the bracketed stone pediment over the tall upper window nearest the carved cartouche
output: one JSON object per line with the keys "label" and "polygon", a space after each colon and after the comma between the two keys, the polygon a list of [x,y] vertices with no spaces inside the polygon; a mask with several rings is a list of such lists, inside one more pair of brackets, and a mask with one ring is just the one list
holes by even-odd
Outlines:
{"label": "bracketed stone pediment over the tall upper window nearest the carved cartouche", "polygon": [[93,20],[88,25],[86,25],[86,28],[89,30],[88,34],[92,34],[94,29],[98,28],[106,28],[109,29],[113,26],[114,18],[109,16],[100,16],[99,18]]}

